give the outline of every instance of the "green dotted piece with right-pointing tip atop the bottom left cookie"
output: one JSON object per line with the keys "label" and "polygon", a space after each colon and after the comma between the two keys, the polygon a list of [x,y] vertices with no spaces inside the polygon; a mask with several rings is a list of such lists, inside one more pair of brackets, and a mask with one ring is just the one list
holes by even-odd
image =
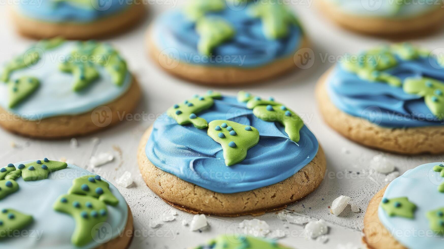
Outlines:
{"label": "green dotted piece with right-pointing tip atop the bottom left cookie", "polygon": [[[36,161],[25,164],[25,167],[21,169],[22,177],[24,181],[36,181],[48,178],[48,174],[53,171],[65,169],[68,165],[65,162],[41,160],[42,164],[38,164]],[[42,165],[46,165],[48,169],[43,169]],[[34,167],[34,170],[30,170],[29,167]]]}

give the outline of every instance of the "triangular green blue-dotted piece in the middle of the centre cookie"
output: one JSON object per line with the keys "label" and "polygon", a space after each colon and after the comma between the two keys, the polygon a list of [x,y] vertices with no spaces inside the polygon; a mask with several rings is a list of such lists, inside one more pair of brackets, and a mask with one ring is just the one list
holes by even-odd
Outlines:
{"label": "triangular green blue-dotted piece in the middle of the centre cookie", "polygon": [[[228,127],[231,126],[237,134],[234,136],[230,135],[230,131],[228,131],[226,128],[223,128],[222,123],[226,123]],[[216,126],[220,126],[221,130],[215,130]],[[247,150],[258,144],[258,129],[250,126],[251,131],[247,131],[245,129],[247,126],[250,125],[243,125],[229,120],[213,120],[210,122],[210,124],[208,124],[208,136],[222,145],[225,165],[231,166],[241,162],[247,156]],[[223,133],[225,137],[219,137],[219,133]],[[230,147],[230,142],[234,142],[236,144],[236,147]]]}

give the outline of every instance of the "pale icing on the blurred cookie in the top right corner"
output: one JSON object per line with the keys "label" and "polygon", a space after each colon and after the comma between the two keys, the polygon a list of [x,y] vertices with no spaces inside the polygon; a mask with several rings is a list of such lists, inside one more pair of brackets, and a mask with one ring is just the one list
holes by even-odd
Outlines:
{"label": "pale icing on the blurred cookie in the top right corner", "polygon": [[[420,16],[436,8],[441,1],[412,1],[403,4],[399,11],[393,6],[395,0],[324,0],[334,4],[342,12],[353,16],[402,18]],[[404,2],[406,2],[404,0]]]}

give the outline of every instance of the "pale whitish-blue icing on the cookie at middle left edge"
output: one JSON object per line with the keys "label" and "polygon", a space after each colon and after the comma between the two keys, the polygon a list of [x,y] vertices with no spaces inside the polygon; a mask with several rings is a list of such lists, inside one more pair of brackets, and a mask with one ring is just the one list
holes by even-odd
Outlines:
{"label": "pale whitish-blue icing on the cookie at middle left edge", "polygon": [[45,51],[44,58],[36,65],[16,70],[11,74],[11,80],[21,76],[34,76],[40,80],[36,92],[15,108],[8,107],[8,84],[0,82],[0,106],[29,120],[78,115],[118,99],[129,89],[132,82],[129,72],[123,85],[117,86],[112,83],[111,76],[106,70],[97,66],[99,79],[82,91],[73,91],[74,77],[71,73],[62,72],[59,64],[64,58],[69,58],[66,56],[71,54],[75,44],[75,41],[66,41],[59,47]]}

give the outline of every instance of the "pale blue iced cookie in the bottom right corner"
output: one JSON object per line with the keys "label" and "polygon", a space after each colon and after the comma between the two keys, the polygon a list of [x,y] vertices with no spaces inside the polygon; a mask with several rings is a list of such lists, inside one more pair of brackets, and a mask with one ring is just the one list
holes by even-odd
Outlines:
{"label": "pale blue iced cookie in the bottom right corner", "polygon": [[443,163],[410,169],[373,197],[364,217],[363,241],[368,248],[443,247],[442,169]]}

